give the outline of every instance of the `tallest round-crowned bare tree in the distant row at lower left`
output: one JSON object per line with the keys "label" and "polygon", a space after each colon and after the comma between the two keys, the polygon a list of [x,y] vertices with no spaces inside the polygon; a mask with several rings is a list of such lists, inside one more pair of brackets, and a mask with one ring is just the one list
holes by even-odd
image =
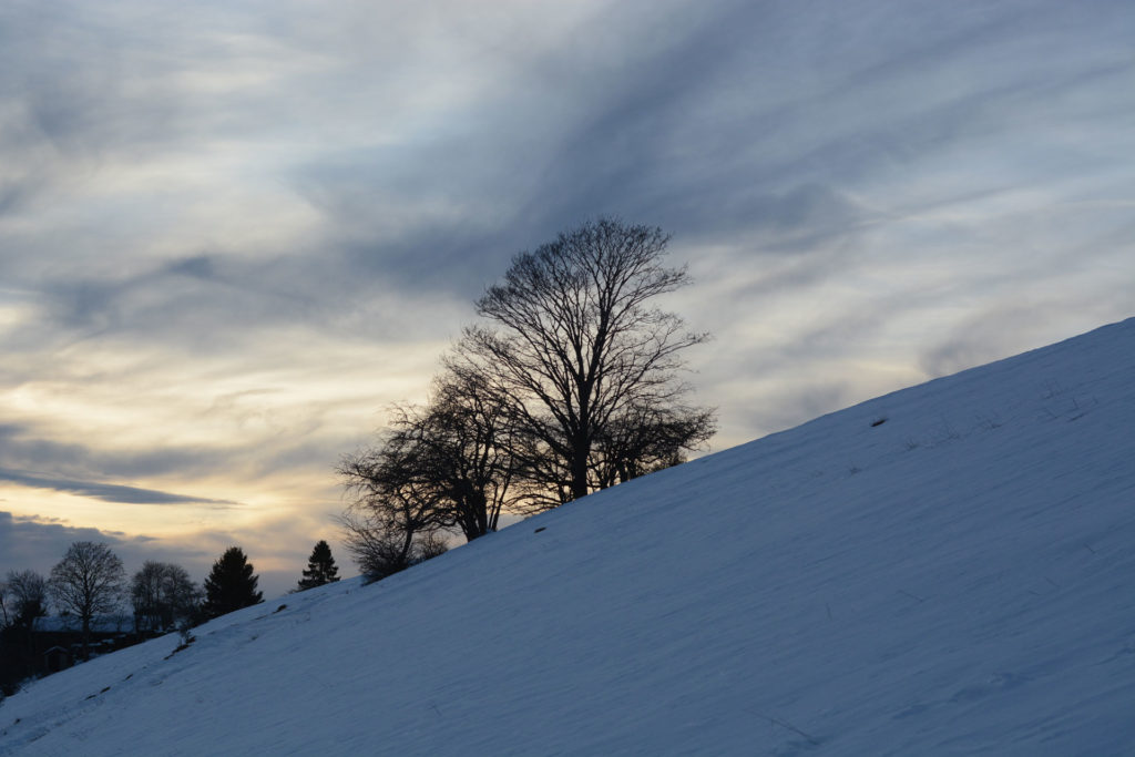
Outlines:
{"label": "tallest round-crowned bare tree in the distant row at lower left", "polygon": [[51,569],[48,586],[56,604],[83,623],[83,657],[90,656],[91,620],[118,608],[123,561],[104,544],[76,541]]}

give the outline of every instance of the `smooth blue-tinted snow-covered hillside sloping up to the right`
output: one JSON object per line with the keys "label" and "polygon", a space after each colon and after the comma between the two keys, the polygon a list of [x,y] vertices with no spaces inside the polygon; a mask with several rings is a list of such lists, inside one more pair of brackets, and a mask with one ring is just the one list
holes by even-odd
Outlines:
{"label": "smooth blue-tinted snow-covered hillside sloping up to the right", "polygon": [[1135,754],[1135,319],[196,636],[0,754]]}

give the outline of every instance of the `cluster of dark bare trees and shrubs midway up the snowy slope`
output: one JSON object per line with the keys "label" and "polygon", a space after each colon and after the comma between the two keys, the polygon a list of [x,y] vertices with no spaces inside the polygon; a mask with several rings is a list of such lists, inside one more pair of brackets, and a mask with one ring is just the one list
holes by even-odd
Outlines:
{"label": "cluster of dark bare trees and shrubs midway up the snowy slope", "polygon": [[535,513],[676,464],[715,429],[681,353],[707,338],[656,305],[689,283],[658,228],[599,219],[516,255],[477,302],[424,406],[343,459],[346,544],[373,578]]}

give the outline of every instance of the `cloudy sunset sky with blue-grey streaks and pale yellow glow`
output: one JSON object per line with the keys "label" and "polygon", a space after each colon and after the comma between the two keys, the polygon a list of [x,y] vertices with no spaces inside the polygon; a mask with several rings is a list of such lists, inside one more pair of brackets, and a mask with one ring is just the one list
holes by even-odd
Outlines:
{"label": "cloudy sunset sky with blue-grey streaks and pale yellow glow", "polygon": [[602,213],[689,264],[713,449],[1133,316],[1133,40],[1127,0],[6,0],[0,575],[353,573],[338,457]]}

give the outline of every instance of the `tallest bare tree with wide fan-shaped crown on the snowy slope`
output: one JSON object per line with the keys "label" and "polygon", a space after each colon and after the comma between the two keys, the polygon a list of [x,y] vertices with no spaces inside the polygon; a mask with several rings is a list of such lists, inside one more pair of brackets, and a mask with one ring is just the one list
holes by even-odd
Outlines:
{"label": "tallest bare tree with wide fan-shaped crown on the snowy slope", "polygon": [[477,303],[451,367],[479,372],[505,398],[537,507],[653,470],[714,431],[689,407],[681,353],[688,331],[656,300],[689,283],[663,264],[658,228],[600,218],[516,255]]}

